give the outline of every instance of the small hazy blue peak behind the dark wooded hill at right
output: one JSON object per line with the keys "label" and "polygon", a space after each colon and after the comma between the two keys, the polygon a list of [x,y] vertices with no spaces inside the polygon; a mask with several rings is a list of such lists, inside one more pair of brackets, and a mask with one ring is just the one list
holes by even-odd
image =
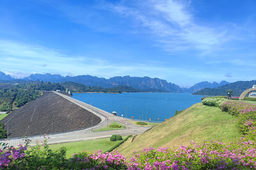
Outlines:
{"label": "small hazy blue peak behind the dark wooded hill at right", "polygon": [[213,83],[210,83],[208,81],[203,81],[203,82],[196,83],[194,86],[191,86],[189,89],[182,89],[182,92],[193,94],[194,92],[197,92],[204,88],[217,88],[217,87],[226,85],[228,83],[229,82],[227,81],[221,81],[220,83],[217,83],[215,81]]}

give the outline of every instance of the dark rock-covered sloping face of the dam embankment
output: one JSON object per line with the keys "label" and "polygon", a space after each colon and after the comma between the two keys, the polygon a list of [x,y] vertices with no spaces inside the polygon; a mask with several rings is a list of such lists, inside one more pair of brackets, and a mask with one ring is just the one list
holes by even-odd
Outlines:
{"label": "dark rock-covered sloping face of the dam embankment", "polygon": [[[9,120],[9,125],[8,125]],[[51,91],[11,112],[2,121],[9,137],[60,133],[89,128],[102,118]]]}

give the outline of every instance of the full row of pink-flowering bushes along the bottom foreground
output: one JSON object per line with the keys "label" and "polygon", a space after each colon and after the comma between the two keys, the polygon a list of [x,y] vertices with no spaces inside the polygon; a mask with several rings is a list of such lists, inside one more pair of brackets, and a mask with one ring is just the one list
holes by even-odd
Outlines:
{"label": "full row of pink-flowering bushes along the bottom foreground", "polygon": [[[144,148],[140,154],[135,154],[128,163],[118,151],[106,152],[101,150],[79,152],[69,159],[63,159],[62,154],[46,153],[46,146],[40,152],[38,147],[34,151],[20,146],[18,150],[9,148],[1,154],[0,168],[2,169],[255,169],[256,143],[241,138],[227,144],[210,141],[197,145],[191,141],[189,146],[177,149]],[[36,151],[36,152],[35,152]],[[59,152],[60,153],[60,152]],[[44,156],[43,156],[44,155]],[[37,159],[37,160],[36,160]]]}

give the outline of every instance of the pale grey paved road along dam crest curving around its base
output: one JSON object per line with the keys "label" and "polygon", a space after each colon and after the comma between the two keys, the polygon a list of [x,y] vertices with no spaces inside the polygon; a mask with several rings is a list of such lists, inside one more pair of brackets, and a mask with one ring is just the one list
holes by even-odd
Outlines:
{"label": "pale grey paved road along dam crest curving around its base", "polygon": [[[48,140],[49,145],[57,144],[57,143],[65,143],[65,142],[75,142],[75,141],[85,141],[85,140],[94,140],[94,139],[102,139],[102,138],[109,138],[112,134],[120,134],[120,135],[133,135],[133,134],[140,134],[148,130],[148,127],[140,127],[137,125],[134,125],[132,123],[124,121],[123,117],[114,116],[113,114],[110,114],[106,111],[103,111],[97,107],[88,105],[86,103],[83,103],[82,101],[76,100],[74,98],[62,95],[58,92],[55,92],[55,94],[58,94],[69,101],[77,104],[78,106],[81,106],[88,111],[92,112],[93,114],[99,116],[101,118],[101,122],[98,125],[93,126],[92,128],[87,128],[84,130],[78,130],[73,132],[64,132],[59,134],[50,134],[50,139]],[[120,124],[124,124],[126,126],[126,129],[124,130],[115,130],[115,131],[104,131],[104,132],[92,132],[92,130],[97,130],[103,127],[106,127],[107,125],[111,124],[113,121],[118,122]],[[135,132],[136,131],[136,132]],[[35,145],[35,141],[43,141],[44,137],[41,136],[34,136],[29,137],[30,140],[32,140],[30,143],[31,145]],[[4,141],[0,141],[4,142]],[[11,138],[9,141],[11,146],[18,146],[19,144],[24,145],[25,141],[22,140],[22,138]]]}

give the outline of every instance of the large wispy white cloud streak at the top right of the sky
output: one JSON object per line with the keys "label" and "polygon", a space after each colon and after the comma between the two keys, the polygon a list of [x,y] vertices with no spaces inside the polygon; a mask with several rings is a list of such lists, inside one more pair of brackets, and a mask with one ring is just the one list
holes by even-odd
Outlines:
{"label": "large wispy white cloud streak at the top right of the sky", "polygon": [[[133,7],[125,3],[109,4],[114,12],[125,15],[151,30],[175,50],[188,48],[211,49],[227,41],[225,28],[208,27],[197,23],[190,12],[190,1],[151,0],[146,3],[133,1]],[[189,45],[188,45],[189,44]]]}

